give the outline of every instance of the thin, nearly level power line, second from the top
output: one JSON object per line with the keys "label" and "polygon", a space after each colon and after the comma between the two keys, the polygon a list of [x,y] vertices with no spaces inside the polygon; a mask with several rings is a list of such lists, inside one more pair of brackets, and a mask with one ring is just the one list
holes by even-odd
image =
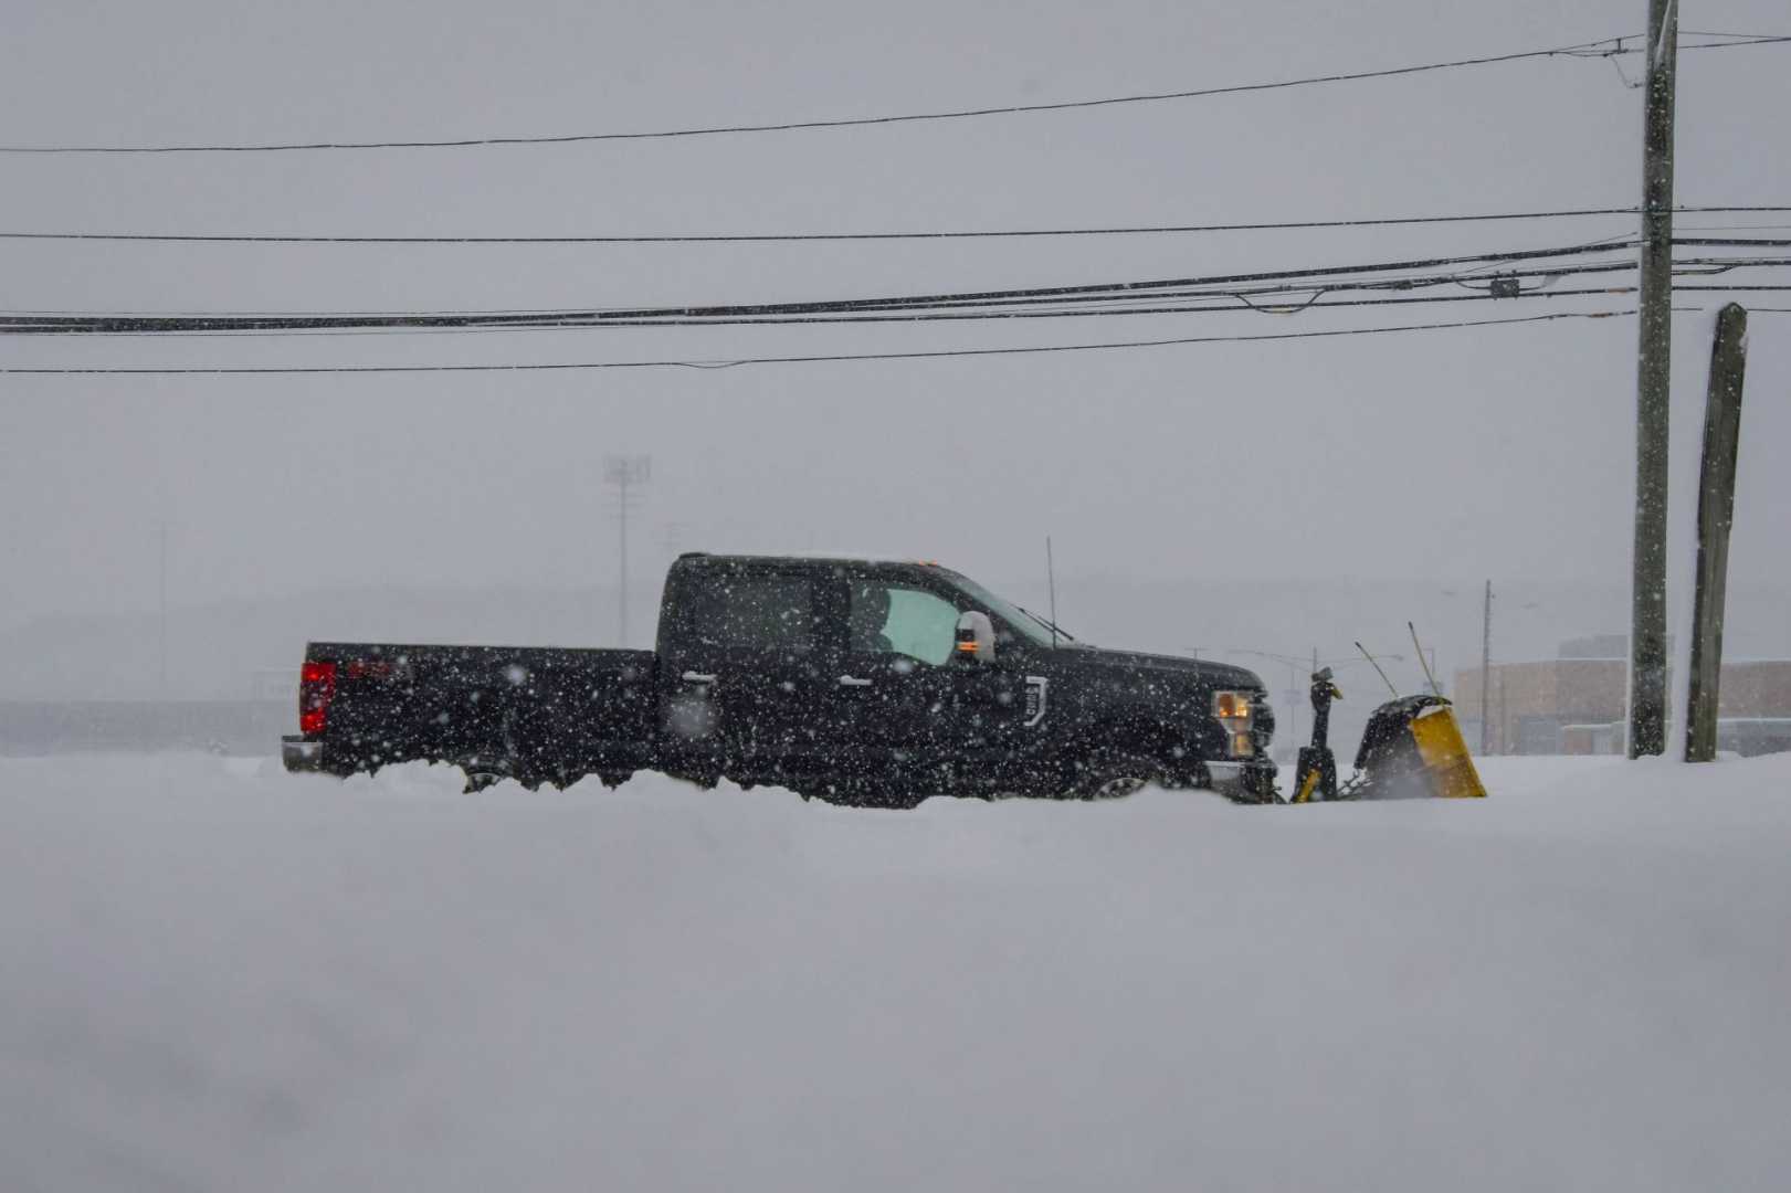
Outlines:
{"label": "thin, nearly level power line, second from the top", "polygon": [[[1782,213],[1791,206],[1709,206],[1675,208],[1684,213]],[[998,240],[1019,236],[1146,236],[1164,233],[1221,231],[1297,231],[1316,227],[1395,227],[1411,224],[1485,224],[1510,220],[1581,219],[1594,215],[1641,215],[1641,208],[1567,208],[1560,211],[1499,211],[1488,215],[1401,215],[1358,220],[1279,220],[1264,224],[1141,224],[1123,227],[998,227],[949,231],[876,231],[876,233],[647,233],[598,236],[326,236],[301,233],[75,233],[75,231],[0,231],[0,240],[104,240],[150,244],[784,244],[810,240]]]}

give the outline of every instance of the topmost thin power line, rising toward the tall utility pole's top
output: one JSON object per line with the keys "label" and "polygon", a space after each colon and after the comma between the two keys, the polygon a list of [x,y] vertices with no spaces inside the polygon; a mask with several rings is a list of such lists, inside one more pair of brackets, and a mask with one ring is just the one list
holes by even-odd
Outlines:
{"label": "topmost thin power line, rising toward the tall utility pole's top", "polygon": [[[634,142],[664,140],[682,136],[718,136],[731,133],[790,133],[799,129],[842,129],[887,124],[917,124],[928,120],[967,120],[974,116],[1008,116],[1039,111],[1067,111],[1076,107],[1114,107],[1119,104],[1157,104],[1166,100],[1205,99],[1214,95],[1243,95],[1254,91],[1277,91],[1282,88],[1304,88],[1329,82],[1358,82],[1363,79],[1393,79],[1399,75],[1418,75],[1436,70],[1461,70],[1469,66],[1492,66],[1497,63],[1517,63],[1540,57],[1619,57],[1639,54],[1641,48],[1624,47],[1626,38],[1605,38],[1599,41],[1581,41],[1578,45],[1551,47],[1546,50],[1519,50],[1515,54],[1492,54],[1483,57],[1461,57],[1445,63],[1422,63],[1415,66],[1390,66],[1383,70],[1358,70],[1349,73],[1309,75],[1304,79],[1281,79],[1273,82],[1241,82],[1220,88],[1195,88],[1187,91],[1153,91],[1143,95],[1109,95],[1085,100],[1057,100],[1048,104],[1003,104],[992,107],[964,107],[955,111],[906,113],[890,116],[833,116],[820,120],[784,120],[776,124],[722,124],[690,129],[659,129],[641,133],[571,133],[544,136],[466,136],[453,140],[414,140],[414,142],[285,142],[258,145],[0,145],[7,154],[229,154],[229,152],[290,152],[290,150],[333,150],[333,149],[471,149],[484,145],[570,145],[580,142]],[[1680,50],[1723,50],[1744,45],[1771,45],[1791,41],[1791,36],[1761,36],[1748,39],[1710,41],[1684,45]]]}

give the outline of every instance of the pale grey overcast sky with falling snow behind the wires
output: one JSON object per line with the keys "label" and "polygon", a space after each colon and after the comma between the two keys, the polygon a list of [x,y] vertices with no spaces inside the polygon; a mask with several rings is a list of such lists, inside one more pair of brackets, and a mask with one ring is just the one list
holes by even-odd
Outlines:
{"label": "pale grey overcast sky with falling snow behind the wires", "polygon": [[[1633,34],[1642,0],[399,4],[11,0],[0,143],[453,138],[1173,91]],[[1782,0],[1687,29],[1787,32]],[[1678,197],[1791,201],[1791,50],[1687,54]],[[1635,59],[1624,64],[1639,72]],[[11,231],[548,235],[1234,222],[1624,206],[1607,61],[808,133],[552,147],[5,156]],[[1684,217],[1682,226],[1791,222]],[[636,247],[0,244],[7,310],[450,310],[849,297],[1521,249],[1633,219],[1087,240]],[[1771,235],[1771,233],[1766,233]],[[1782,233],[1780,233],[1782,235]],[[1766,279],[1780,279],[1782,274]],[[1761,306],[1778,296],[1757,296]],[[1685,296],[1714,310],[1719,296]],[[1630,299],[1562,303],[1603,310]],[[733,358],[1537,313],[0,340],[13,365]],[[1678,315],[1675,430],[1710,313]],[[605,453],[650,453],[641,557],[870,546],[973,575],[1623,580],[1633,319],[1060,356],[627,373],[0,378],[0,620],[362,584],[613,579]],[[1791,315],[1755,317],[1734,582],[1791,586]],[[1689,502],[1689,493],[1678,493]],[[677,530],[668,527],[677,525]],[[650,546],[648,546],[650,545]]]}

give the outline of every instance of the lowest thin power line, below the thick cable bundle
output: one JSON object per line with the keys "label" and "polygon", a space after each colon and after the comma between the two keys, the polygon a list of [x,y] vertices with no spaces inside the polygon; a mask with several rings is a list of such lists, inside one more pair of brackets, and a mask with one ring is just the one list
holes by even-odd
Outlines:
{"label": "lowest thin power line, below the thick cable bundle", "polygon": [[319,373],[539,373],[587,369],[734,369],[740,365],[826,364],[845,360],[940,360],[946,356],[1021,356],[1032,353],[1085,353],[1132,348],[1170,348],[1177,344],[1247,344],[1254,340],[1318,340],[1350,335],[1393,335],[1402,331],[1447,331],[1454,328],[1492,328],[1521,322],[1555,322],[1560,319],[1615,319],[1633,315],[1635,308],[1601,312],[1551,312],[1547,315],[1521,315],[1512,319],[1469,319],[1458,322],[1413,322],[1392,328],[1343,328],[1333,331],[1272,331],[1264,335],[1189,335],[1168,340],[1119,340],[1107,344],[1044,344],[1032,348],[951,348],[910,353],[827,353],[813,356],[741,356],[734,360],[600,360],[577,364],[462,364],[462,365],[64,365],[18,367],[4,365],[0,374],[13,376],[267,376]]}

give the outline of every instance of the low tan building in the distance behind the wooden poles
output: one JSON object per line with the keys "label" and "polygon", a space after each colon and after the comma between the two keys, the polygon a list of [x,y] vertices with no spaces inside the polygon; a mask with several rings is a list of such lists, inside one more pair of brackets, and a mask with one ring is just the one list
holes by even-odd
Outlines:
{"label": "low tan building in the distance behind the wooden poles", "polygon": [[[1487,684],[1490,752],[1621,754],[1626,684],[1623,634],[1564,641],[1560,657],[1540,663],[1494,663]],[[1479,690],[1478,666],[1454,674],[1456,715],[1476,751],[1488,717]],[[1716,736],[1718,749],[1737,754],[1791,751],[1791,659],[1723,663]]]}

